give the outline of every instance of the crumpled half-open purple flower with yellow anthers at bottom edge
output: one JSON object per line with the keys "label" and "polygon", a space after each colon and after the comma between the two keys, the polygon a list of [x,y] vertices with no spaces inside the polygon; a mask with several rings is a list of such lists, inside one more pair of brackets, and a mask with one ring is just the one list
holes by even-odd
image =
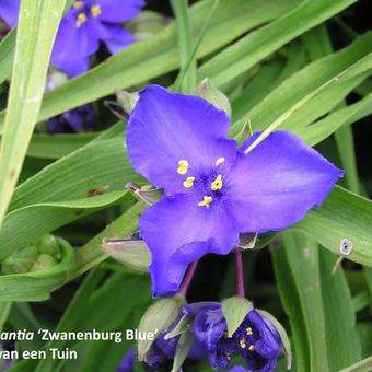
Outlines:
{"label": "crumpled half-open purple flower with yellow anthers at bottom edge", "polygon": [[232,356],[239,353],[246,360],[249,371],[275,370],[282,341],[275,326],[255,310],[246,315],[231,338],[219,303],[205,303],[199,307],[191,304],[184,311],[194,316],[190,330],[208,350],[212,368],[228,368]]}

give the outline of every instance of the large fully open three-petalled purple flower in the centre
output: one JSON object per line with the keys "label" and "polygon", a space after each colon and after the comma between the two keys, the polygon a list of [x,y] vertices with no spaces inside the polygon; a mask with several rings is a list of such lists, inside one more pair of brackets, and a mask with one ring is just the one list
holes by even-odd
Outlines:
{"label": "large fully open three-petalled purple flower in the centre", "polygon": [[130,115],[127,148],[165,196],[139,220],[152,254],[153,295],[172,295],[187,266],[228,254],[240,233],[278,231],[319,206],[344,172],[295,135],[276,131],[248,154],[228,139],[224,112],[149,85]]}

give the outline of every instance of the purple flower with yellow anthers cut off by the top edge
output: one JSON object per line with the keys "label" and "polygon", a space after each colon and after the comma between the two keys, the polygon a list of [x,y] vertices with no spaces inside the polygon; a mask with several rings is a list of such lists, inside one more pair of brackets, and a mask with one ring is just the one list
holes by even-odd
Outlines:
{"label": "purple flower with yellow anthers cut off by the top edge", "polygon": [[104,42],[112,54],[133,43],[123,23],[135,18],[144,0],[74,1],[63,16],[51,54],[51,65],[71,78],[89,68],[89,57]]}

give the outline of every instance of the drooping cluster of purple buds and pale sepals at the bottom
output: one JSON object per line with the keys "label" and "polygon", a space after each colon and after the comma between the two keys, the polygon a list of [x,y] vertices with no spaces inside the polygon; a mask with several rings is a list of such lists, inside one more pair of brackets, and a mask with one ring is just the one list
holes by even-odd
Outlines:
{"label": "drooping cluster of purple buds and pale sepals at the bottom", "polygon": [[[154,340],[139,340],[139,360],[147,371],[165,365],[176,372],[186,361],[208,359],[211,368],[230,371],[274,371],[281,351],[291,367],[284,328],[269,313],[234,297],[187,304],[181,297],[156,301],[143,315],[139,332],[158,329]],[[129,361],[130,360],[130,361]],[[248,370],[239,363],[245,363]],[[237,364],[236,364],[237,363]],[[131,371],[133,350],[118,371]]]}

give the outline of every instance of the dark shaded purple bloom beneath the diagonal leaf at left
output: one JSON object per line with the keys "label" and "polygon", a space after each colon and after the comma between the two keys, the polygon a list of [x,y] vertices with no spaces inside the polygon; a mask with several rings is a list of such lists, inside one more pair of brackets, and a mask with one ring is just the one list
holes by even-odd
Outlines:
{"label": "dark shaded purple bloom beneath the diagonal leaf at left", "polygon": [[54,135],[92,130],[95,124],[93,106],[88,104],[48,119],[48,132]]}

